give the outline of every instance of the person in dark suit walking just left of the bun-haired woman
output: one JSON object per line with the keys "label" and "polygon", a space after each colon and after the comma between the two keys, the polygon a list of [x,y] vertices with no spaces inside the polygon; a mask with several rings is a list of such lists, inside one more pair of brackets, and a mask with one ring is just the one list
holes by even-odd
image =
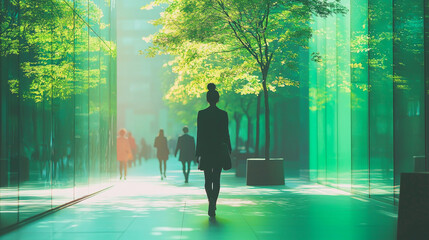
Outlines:
{"label": "person in dark suit walking just left of the bun-haired woman", "polygon": [[[191,171],[191,161],[195,159],[195,140],[194,137],[188,135],[189,128],[183,128],[183,135],[177,140],[176,151],[174,156],[180,150],[179,161],[182,162],[183,175],[185,175],[185,183],[188,183],[189,172]],[[186,168],[187,166],[187,168]]]}

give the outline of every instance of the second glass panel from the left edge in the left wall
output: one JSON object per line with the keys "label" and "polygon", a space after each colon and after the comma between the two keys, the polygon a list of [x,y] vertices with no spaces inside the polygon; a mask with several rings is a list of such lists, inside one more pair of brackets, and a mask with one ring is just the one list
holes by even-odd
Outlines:
{"label": "second glass panel from the left edge in the left wall", "polygon": [[[17,94],[17,124],[19,127],[18,156],[19,172],[19,220],[25,220],[52,207],[52,180],[55,149],[53,143],[52,84],[53,34],[57,17],[52,15],[55,3],[44,4],[44,10],[51,17],[47,19],[52,27],[37,22],[32,15],[34,8],[30,1],[20,1],[20,22],[28,24],[20,28],[20,49]],[[34,23],[34,25],[32,25]],[[39,31],[34,32],[36,29]],[[36,87],[37,86],[37,87]],[[12,87],[13,88],[13,87]],[[9,116],[8,116],[9,117]]]}

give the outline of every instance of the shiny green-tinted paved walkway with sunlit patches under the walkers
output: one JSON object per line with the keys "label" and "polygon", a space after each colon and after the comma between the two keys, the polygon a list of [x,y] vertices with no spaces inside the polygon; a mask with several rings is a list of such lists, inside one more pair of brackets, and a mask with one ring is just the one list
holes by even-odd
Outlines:
{"label": "shiny green-tinted paved walkway with sunlit patches under the walkers", "polygon": [[185,184],[181,164],[157,160],[129,170],[126,181],[0,239],[395,239],[397,208],[321,185],[248,187],[222,174],[216,221],[209,221],[203,174]]}

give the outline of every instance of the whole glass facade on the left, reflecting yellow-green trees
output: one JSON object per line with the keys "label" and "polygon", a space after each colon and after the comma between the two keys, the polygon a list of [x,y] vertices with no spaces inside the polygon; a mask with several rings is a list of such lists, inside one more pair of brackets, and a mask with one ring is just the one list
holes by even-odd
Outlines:
{"label": "whole glass facade on the left, reflecting yellow-green trees", "polygon": [[116,174],[114,0],[0,2],[0,228]]}

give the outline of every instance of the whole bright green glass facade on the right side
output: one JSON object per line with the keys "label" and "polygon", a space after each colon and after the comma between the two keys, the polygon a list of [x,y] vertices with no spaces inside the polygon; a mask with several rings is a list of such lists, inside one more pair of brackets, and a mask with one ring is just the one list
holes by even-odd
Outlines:
{"label": "whole bright green glass facade on the right side", "polygon": [[428,170],[428,2],[343,0],[312,23],[311,180],[395,202]]}

